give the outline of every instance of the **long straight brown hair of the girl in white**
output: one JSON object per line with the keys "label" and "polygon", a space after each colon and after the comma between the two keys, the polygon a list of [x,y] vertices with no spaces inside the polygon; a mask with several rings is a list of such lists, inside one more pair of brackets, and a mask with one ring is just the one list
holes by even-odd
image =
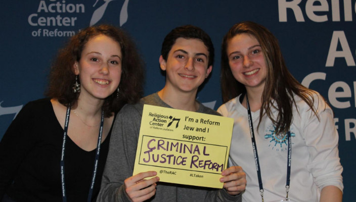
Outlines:
{"label": "long straight brown hair of the girl in white", "polygon": [[[293,121],[292,107],[296,106],[293,93],[303,99],[319,119],[311,91],[301,85],[288,71],[277,38],[265,27],[250,21],[235,24],[222,41],[220,79],[224,103],[241,93],[246,93],[245,86],[237,81],[231,72],[227,54],[229,41],[242,33],[250,34],[257,39],[268,69],[261,98],[259,123],[265,113],[275,125],[275,133],[286,134]],[[278,110],[276,118],[272,115],[272,108]]]}

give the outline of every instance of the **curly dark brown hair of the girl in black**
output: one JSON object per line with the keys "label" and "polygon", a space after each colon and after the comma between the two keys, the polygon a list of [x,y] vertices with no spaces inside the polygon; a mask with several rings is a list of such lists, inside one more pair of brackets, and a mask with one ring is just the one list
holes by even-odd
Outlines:
{"label": "curly dark brown hair of the girl in black", "polygon": [[136,103],[143,95],[144,63],[136,45],[122,29],[112,25],[91,26],[72,36],[66,46],[58,52],[49,75],[46,95],[57,98],[65,105],[76,107],[79,93],[73,92],[75,74],[73,65],[79,62],[83,48],[88,40],[103,34],[117,41],[122,54],[122,74],[119,93],[113,92],[105,98],[103,110],[106,117],[118,112],[126,103]]}

